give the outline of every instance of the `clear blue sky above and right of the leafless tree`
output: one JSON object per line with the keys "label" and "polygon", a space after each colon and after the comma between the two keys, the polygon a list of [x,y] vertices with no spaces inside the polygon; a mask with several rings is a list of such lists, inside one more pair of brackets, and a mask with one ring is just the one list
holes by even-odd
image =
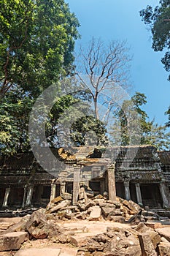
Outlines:
{"label": "clear blue sky above and right of the leafless tree", "polygon": [[150,31],[142,22],[139,10],[147,4],[158,5],[158,0],[66,0],[70,10],[80,21],[81,39],[77,46],[88,42],[91,37],[100,37],[104,42],[112,39],[126,39],[131,47],[131,83],[135,91],[147,96],[147,111],[150,120],[155,118],[158,124],[164,124],[168,118],[164,115],[170,105],[169,73],[163,69],[163,53],[152,50]]}

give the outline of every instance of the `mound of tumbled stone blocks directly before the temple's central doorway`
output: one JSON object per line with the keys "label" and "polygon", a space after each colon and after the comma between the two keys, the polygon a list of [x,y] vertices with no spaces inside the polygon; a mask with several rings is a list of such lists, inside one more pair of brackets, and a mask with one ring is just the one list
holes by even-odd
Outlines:
{"label": "mound of tumbled stone blocks directly before the temple's central doorway", "polygon": [[147,220],[169,219],[159,217],[155,212],[145,211],[132,200],[117,197],[115,202],[111,202],[107,200],[107,195],[93,197],[93,194],[85,192],[84,187],[80,189],[79,200],[75,206],[72,206],[72,195],[65,193],[51,200],[47,205],[46,212],[63,220],[87,219],[89,221],[108,220],[120,223],[138,223]]}

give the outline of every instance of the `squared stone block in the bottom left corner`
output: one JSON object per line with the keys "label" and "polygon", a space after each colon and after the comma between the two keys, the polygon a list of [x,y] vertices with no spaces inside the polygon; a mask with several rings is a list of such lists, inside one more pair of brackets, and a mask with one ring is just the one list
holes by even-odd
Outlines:
{"label": "squared stone block in the bottom left corner", "polygon": [[27,239],[27,232],[12,232],[0,236],[0,251],[20,249],[21,244]]}

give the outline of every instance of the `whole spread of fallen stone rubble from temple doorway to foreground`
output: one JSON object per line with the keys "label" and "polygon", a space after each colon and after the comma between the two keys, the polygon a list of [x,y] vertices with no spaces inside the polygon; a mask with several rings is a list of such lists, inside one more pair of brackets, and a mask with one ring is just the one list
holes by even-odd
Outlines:
{"label": "whole spread of fallen stone rubble from temple doorway to foreground", "polygon": [[[100,221],[106,223],[106,229],[95,235],[90,234],[88,227],[76,228],[77,222]],[[72,195],[64,194],[17,224],[9,226],[1,222],[0,252],[18,250],[32,239],[48,239],[52,243],[72,244],[77,247],[77,256],[168,256],[170,225],[162,225],[161,221],[158,214],[144,210],[131,200],[117,197],[116,202],[111,202],[107,196],[93,197],[81,188],[75,206],[72,206]],[[67,222],[74,223],[74,228],[64,227],[63,223]],[[115,222],[118,222],[116,227],[112,225]]]}

